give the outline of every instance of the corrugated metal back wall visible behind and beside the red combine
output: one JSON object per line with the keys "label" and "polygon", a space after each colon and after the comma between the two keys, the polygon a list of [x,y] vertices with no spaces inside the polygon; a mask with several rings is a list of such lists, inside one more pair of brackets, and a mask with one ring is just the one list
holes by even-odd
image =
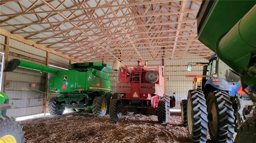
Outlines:
{"label": "corrugated metal back wall visible behind and beside the red combine", "polygon": [[[185,77],[186,74],[198,74],[202,75],[202,69],[203,65],[194,65],[191,72],[187,71],[187,64],[188,63],[196,63],[196,62],[208,62],[207,59],[200,59],[198,57],[189,57],[186,56],[187,59],[169,59],[166,60],[166,67],[164,78],[169,80],[166,80],[166,94],[167,95],[173,95],[175,92],[175,98],[176,98],[176,106],[174,109],[180,109],[180,101],[182,99],[187,98],[188,90],[192,89],[192,81],[193,77],[187,78]],[[139,59],[139,58],[138,58]],[[146,60],[146,59],[145,59]],[[114,61],[114,60],[113,60]],[[90,60],[89,62],[94,62],[94,59]],[[97,61],[98,62],[98,61]],[[112,66],[112,61],[105,62]],[[135,60],[132,61],[124,61],[124,65],[134,66],[137,65],[137,62]],[[144,64],[144,61],[142,61],[142,64]],[[163,60],[148,60],[148,69],[150,67],[156,67],[156,66],[163,66]],[[116,83],[118,82],[118,71],[111,71],[110,72],[110,80],[111,80],[111,87],[112,92],[116,92]],[[115,76],[115,80],[114,80]]]}

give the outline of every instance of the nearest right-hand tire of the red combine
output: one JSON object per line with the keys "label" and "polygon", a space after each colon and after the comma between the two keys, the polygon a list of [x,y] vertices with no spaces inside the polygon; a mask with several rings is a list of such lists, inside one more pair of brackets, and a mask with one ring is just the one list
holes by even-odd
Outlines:
{"label": "nearest right-hand tire of the red combine", "polygon": [[165,100],[160,100],[157,107],[158,123],[167,123],[168,121],[168,106]]}

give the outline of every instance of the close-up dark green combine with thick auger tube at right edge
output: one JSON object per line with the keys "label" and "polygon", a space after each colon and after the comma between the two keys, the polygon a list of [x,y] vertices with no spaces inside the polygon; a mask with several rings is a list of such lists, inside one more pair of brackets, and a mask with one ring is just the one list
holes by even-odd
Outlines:
{"label": "close-up dark green combine with thick auger tube at right edge", "polygon": [[[214,51],[226,65],[233,69],[233,73],[240,76],[242,90],[245,92],[249,87],[249,92],[245,93],[255,105],[256,1],[204,0],[198,12],[197,24],[199,41]],[[218,120],[220,117],[216,118]],[[225,134],[228,135],[228,133]],[[254,111],[254,116],[248,118],[238,129],[235,142],[256,143],[255,139]],[[198,140],[198,142],[204,141]]]}

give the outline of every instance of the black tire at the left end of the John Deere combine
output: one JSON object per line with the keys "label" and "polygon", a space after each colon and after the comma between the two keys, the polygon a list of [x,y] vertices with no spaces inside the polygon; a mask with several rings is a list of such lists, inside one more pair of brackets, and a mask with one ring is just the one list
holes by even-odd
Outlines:
{"label": "black tire at the left end of the John Deere combine", "polygon": [[54,97],[49,101],[48,110],[51,115],[62,115],[65,108],[59,104],[58,97]]}

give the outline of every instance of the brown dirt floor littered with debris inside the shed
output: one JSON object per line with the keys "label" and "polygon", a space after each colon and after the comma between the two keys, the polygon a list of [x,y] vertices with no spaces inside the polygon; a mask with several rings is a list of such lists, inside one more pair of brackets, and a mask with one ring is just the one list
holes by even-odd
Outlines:
{"label": "brown dirt floor littered with debris inside the shed", "polygon": [[120,121],[70,112],[62,116],[41,116],[21,121],[25,143],[190,143],[180,112],[172,112],[167,124],[157,116],[124,115]]}

